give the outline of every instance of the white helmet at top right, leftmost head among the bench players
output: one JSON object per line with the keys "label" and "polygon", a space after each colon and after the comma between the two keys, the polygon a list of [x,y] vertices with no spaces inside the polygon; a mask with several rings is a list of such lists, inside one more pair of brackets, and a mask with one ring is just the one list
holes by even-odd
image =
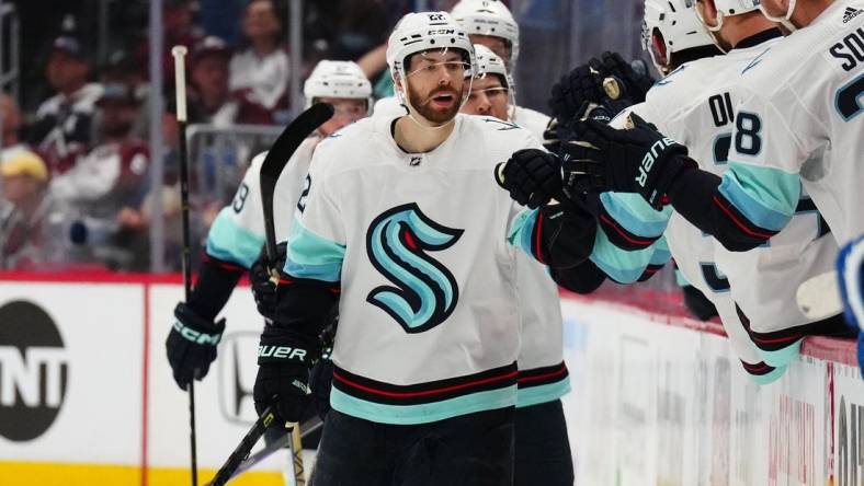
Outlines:
{"label": "white helmet at top right, leftmost head among the bench players", "polygon": [[672,54],[693,47],[713,46],[689,0],[645,0],[643,48],[657,70],[667,74]]}

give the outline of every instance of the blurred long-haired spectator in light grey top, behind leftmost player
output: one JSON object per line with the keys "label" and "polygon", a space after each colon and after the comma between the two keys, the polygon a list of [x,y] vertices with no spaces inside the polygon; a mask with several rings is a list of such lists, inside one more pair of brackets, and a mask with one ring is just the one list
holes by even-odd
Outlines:
{"label": "blurred long-haired spectator in light grey top, behind leftmost player", "polygon": [[230,88],[240,100],[239,120],[284,121],[288,108],[288,55],[284,28],[273,0],[252,0],[246,8],[243,35],[249,46],[235,54]]}

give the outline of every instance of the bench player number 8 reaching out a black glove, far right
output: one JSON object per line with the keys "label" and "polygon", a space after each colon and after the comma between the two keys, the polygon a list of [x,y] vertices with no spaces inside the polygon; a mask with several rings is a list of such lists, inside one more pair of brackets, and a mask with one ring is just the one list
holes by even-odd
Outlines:
{"label": "bench player number 8 reaching out a black glove, far right", "polygon": [[[778,5],[766,2],[762,8]],[[736,84],[743,91],[734,105],[735,127],[723,176],[698,170],[686,149],[638,119],[633,130],[590,127],[587,138],[602,150],[580,157],[601,163],[579,163],[572,176],[590,173],[592,183],[639,193],[652,205],[668,196],[679,213],[731,251],[788,243],[775,235],[794,221],[796,212],[808,209],[802,207],[802,185],[838,241],[861,232],[857,211],[864,200],[857,190],[846,189],[860,174],[843,158],[862,153],[859,134],[864,117],[857,115],[864,112],[860,102],[864,62],[849,47],[864,42],[864,19],[856,13],[862,3],[838,1],[825,8],[825,2],[807,1],[799,2],[797,10],[794,2],[782,5],[783,12],[788,7],[787,24],[812,25],[752,59],[738,74]],[[819,73],[818,79],[814,73]],[[764,265],[788,273],[821,265],[808,255],[803,255],[802,265],[796,253],[800,246],[788,247]],[[785,286],[764,292],[794,296],[786,287],[802,279],[785,275],[791,277]],[[791,301],[777,301],[777,306],[789,306]],[[741,309],[744,317],[758,312],[757,306]],[[762,356],[775,363],[792,359],[805,335],[843,329],[837,319],[783,328],[749,324]]]}

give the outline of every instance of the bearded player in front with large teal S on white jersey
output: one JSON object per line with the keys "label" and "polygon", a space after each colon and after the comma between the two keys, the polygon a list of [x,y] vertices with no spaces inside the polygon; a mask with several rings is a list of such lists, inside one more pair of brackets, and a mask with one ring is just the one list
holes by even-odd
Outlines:
{"label": "bearded player in front with large teal S on white jersey", "polygon": [[[491,185],[496,163],[539,141],[503,120],[458,115],[475,57],[447,13],[406,15],[387,60],[410,113],[361,120],[317,148],[277,313],[261,337],[255,405],[297,419],[338,301],[315,484],[510,484],[512,246],[569,267],[584,258],[595,223],[573,207],[525,210]],[[554,166],[545,152],[532,157]]]}

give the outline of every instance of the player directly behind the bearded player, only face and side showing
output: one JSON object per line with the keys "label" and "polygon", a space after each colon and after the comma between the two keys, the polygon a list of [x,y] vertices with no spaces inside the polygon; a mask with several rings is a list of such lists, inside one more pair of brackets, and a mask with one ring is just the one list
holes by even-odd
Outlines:
{"label": "player directly behind the bearded player, only face and side showing", "polygon": [[[510,96],[504,62],[475,44],[477,72],[462,113],[508,120]],[[573,462],[560,397],[570,391],[564,363],[558,286],[546,266],[516,255],[522,345],[516,377],[514,485],[572,485]]]}

